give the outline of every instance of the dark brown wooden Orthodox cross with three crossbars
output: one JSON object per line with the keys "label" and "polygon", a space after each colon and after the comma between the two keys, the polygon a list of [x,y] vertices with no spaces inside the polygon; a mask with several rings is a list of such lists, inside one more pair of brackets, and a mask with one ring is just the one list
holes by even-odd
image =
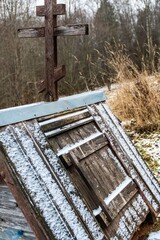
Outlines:
{"label": "dark brown wooden Orthodox cross with three crossbars", "polygon": [[65,4],[57,0],[45,0],[44,6],[37,6],[37,16],[45,17],[45,27],[19,29],[20,38],[45,37],[45,80],[39,84],[39,92],[45,92],[45,100],[58,99],[58,81],[65,76],[65,66],[58,67],[57,36],[88,34],[88,24],[57,26],[57,15],[66,13]]}

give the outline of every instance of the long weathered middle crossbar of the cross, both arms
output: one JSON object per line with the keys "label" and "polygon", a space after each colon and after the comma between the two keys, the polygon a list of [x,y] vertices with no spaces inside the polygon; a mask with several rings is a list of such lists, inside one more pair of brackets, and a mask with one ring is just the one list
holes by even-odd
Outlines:
{"label": "long weathered middle crossbar of the cross, both arms", "polygon": [[[54,28],[55,36],[80,36],[88,34],[89,34],[88,24],[74,24]],[[37,27],[18,29],[18,37],[19,38],[45,37],[45,28]]]}

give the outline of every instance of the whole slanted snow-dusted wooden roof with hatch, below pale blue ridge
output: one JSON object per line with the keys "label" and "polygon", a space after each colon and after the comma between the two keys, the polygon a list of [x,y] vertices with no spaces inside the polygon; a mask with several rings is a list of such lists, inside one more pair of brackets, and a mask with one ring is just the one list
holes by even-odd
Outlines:
{"label": "whole slanted snow-dusted wooden roof with hatch, below pale blue ridge", "polygon": [[160,186],[103,101],[3,127],[0,139],[38,239],[129,240],[159,213]]}

